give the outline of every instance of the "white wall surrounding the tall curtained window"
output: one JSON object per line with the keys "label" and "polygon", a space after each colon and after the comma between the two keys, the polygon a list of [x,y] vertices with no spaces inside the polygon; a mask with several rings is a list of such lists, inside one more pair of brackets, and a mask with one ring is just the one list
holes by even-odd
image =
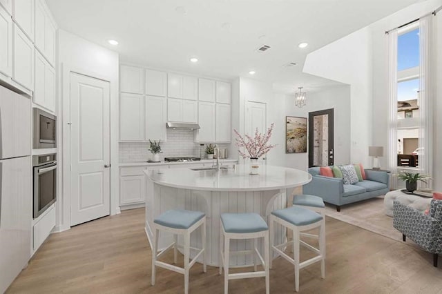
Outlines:
{"label": "white wall surrounding the tall curtained window", "polygon": [[[389,100],[388,100],[388,37],[385,35],[386,30],[401,26],[403,23],[407,23],[424,14],[432,12],[439,6],[442,6],[442,0],[431,0],[416,3],[410,7],[407,7],[395,14],[381,19],[369,26],[372,31],[372,50],[373,50],[373,144],[375,146],[384,146],[388,148],[388,113],[389,113]],[[440,154],[440,146],[442,146],[442,138],[440,130],[442,127],[442,119],[440,113],[442,113],[442,12],[436,14],[433,20],[433,49],[434,49],[434,62],[432,65],[434,90],[436,91],[433,99],[434,109],[434,135],[433,135],[433,173],[434,177],[434,189],[442,190],[442,174],[439,172],[442,170],[442,155]],[[387,149],[385,149],[387,150]],[[388,166],[388,157],[385,154],[381,157],[381,166]]]}

